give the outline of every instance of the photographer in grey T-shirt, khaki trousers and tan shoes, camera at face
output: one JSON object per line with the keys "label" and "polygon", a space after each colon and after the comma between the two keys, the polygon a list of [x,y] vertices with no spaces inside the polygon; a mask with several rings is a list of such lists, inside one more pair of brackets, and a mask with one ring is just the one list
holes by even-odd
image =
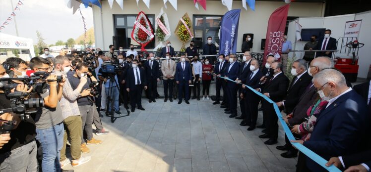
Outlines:
{"label": "photographer in grey T-shirt, khaki trousers and tan shoes, camera at face", "polygon": [[[76,66],[75,73],[68,77],[68,81],[71,84],[71,87],[73,90],[77,88],[77,86],[80,84],[80,79],[88,76],[87,82],[82,87],[82,89],[89,90],[89,94],[81,94],[81,97],[77,99],[77,105],[80,110],[81,120],[82,120],[82,131],[86,132],[87,135],[87,144],[100,144],[102,143],[101,140],[96,140],[93,138],[93,129],[92,129],[92,123],[93,123],[93,116],[95,113],[98,114],[97,107],[94,104],[94,98],[93,95],[90,93],[91,88],[90,85],[92,82],[97,83],[97,80],[92,76],[92,74],[88,71],[88,66],[85,63],[78,63]],[[84,92],[83,91],[83,92]],[[89,153],[90,150],[88,147],[86,147],[83,135],[81,135],[81,148],[80,150],[83,153]]]}

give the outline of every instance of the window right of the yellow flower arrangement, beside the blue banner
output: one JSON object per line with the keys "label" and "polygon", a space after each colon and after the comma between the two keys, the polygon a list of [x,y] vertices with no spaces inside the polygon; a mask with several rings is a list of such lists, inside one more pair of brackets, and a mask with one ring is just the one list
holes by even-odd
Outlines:
{"label": "window right of the yellow flower arrangement, beside the blue banner", "polygon": [[207,37],[213,38],[213,43],[219,48],[219,29],[222,15],[193,15],[193,32],[196,46],[202,48],[207,43]]}

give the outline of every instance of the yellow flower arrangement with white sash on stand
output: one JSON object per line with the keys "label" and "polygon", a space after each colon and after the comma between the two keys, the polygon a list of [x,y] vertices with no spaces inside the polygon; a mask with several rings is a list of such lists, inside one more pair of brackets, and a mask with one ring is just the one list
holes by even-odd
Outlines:
{"label": "yellow flower arrangement with white sash on stand", "polygon": [[175,34],[178,36],[178,39],[182,42],[181,52],[185,52],[186,42],[193,38],[192,22],[187,13],[184,14],[183,17],[179,20],[178,26],[175,29]]}

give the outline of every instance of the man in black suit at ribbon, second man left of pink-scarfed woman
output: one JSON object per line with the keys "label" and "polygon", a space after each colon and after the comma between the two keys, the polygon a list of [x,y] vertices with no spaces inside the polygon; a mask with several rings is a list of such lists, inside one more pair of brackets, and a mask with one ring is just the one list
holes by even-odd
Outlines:
{"label": "man in black suit at ribbon, second man left of pink-scarfed woman", "polygon": [[[293,78],[289,90],[287,90],[287,95],[283,101],[276,102],[277,106],[280,109],[285,109],[286,114],[291,114],[295,106],[299,102],[299,98],[303,94],[303,92],[308,87],[309,83],[311,82],[312,77],[309,76],[307,72],[307,61],[304,59],[296,60],[291,69],[291,74],[295,77]],[[289,117],[288,117],[289,118]],[[288,123],[288,118],[284,118],[286,123]],[[289,125],[289,127],[291,127]],[[300,135],[294,133],[294,137],[300,138]],[[286,144],[290,144],[290,140],[288,140],[285,134]],[[281,156],[284,158],[293,158],[296,157],[298,154],[298,150],[292,146],[288,146],[288,152],[282,153]]]}

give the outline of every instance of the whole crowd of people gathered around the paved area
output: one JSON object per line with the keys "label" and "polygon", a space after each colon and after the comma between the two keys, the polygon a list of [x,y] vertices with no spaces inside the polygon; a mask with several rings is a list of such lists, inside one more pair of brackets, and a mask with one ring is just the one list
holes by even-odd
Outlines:
{"label": "whole crowd of people gathered around the paved area", "polygon": [[[305,48],[334,48],[330,47],[333,46],[329,37],[331,31],[326,30],[325,34],[324,40],[318,43],[313,36],[313,41]],[[44,48],[42,57],[34,57],[29,62],[8,58],[0,66],[0,79],[23,78],[28,70],[50,75],[45,80],[45,90],[33,94],[44,99],[44,107],[31,113],[32,118],[20,120],[13,113],[0,116],[2,120],[18,122],[10,134],[0,135],[0,171],[37,171],[36,157],[40,157],[39,167],[44,172],[61,171],[69,163],[73,167],[82,165],[91,160],[89,156],[82,156],[82,153],[90,152],[87,145],[102,143],[93,137],[92,125],[97,135],[109,133],[102,126],[100,112],[120,116],[120,107],[131,112],[135,109],[144,111],[143,90],[149,103],[162,98],[164,102],[178,98],[178,104],[183,101],[189,104],[190,99],[210,100],[210,90],[214,89],[210,84],[215,81],[216,96],[210,106],[220,104],[230,118],[242,120],[240,125],[248,126],[248,131],[262,129],[258,137],[267,139],[264,144],[278,143],[278,116],[271,103],[247,87],[267,96],[286,114],[283,120],[297,140],[285,136],[286,143],[276,148],[285,151],[281,154],[284,158],[299,154],[297,172],[325,169],[299,152],[292,142],[303,144],[328,160],[326,166],[335,165],[347,172],[370,172],[371,83],[352,88],[327,57],[331,55],[329,51],[316,58],[314,54],[306,53],[304,59],[287,66],[285,55],[291,50],[291,43],[286,39],[285,36],[283,62],[268,55],[263,65],[249,51],[249,36],[242,47],[246,51],[241,56],[241,63],[236,54],[216,55],[211,37],[203,46],[203,58],[198,55],[193,41],[180,57],[175,57],[174,48],[170,41],[166,41],[158,57],[150,52],[140,58],[133,45],[126,52],[123,47],[115,51],[115,46],[110,45],[106,53],[100,48],[95,51],[89,48],[85,55],[61,51],[59,56],[53,57],[49,49]],[[108,64],[119,70],[107,73]],[[291,81],[285,68],[291,68],[294,76]],[[58,76],[62,76],[62,81],[57,82]],[[164,97],[157,89],[160,80],[164,85]],[[5,85],[10,83],[18,84],[15,91],[32,91],[17,79],[1,80],[0,109],[10,108],[9,97],[4,92]],[[92,93],[94,87],[98,88],[99,96]],[[258,125],[259,110],[263,120]],[[70,159],[65,153],[67,146]]]}

